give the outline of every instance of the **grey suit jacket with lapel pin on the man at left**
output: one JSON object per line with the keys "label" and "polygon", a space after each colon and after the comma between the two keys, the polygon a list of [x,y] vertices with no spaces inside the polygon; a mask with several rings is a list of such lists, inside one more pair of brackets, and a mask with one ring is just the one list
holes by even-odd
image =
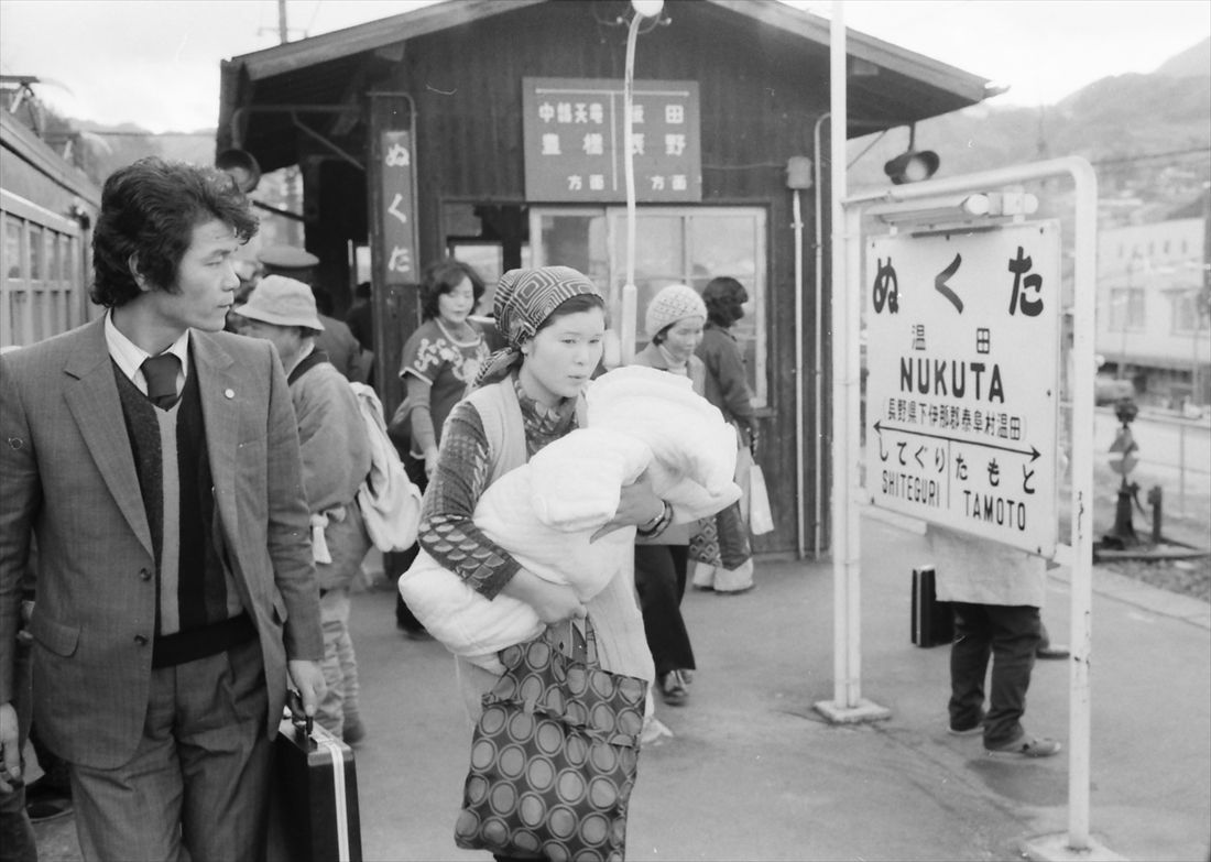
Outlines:
{"label": "grey suit jacket with lapel pin on the man at left", "polygon": [[[298,432],[268,341],[191,333],[214,541],[260,640],[276,731],[286,661],[323,655]],[[70,762],[126,763],[142,737],[155,561],[104,321],[0,357],[0,702],[12,699],[18,584],[38,536],[34,720]]]}

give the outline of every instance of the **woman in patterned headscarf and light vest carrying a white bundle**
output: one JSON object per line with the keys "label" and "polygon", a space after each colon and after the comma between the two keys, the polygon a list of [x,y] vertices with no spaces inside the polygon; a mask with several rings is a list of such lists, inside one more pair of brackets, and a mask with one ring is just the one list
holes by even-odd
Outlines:
{"label": "woman in patterned headscarf and light vest carrying a white bundle", "polygon": [[[602,667],[650,682],[652,654],[629,567],[581,603],[572,587],[523,569],[472,518],[476,502],[493,482],[578,427],[581,390],[602,356],[604,303],[597,287],[576,270],[544,266],[505,272],[493,311],[507,346],[488,357],[476,389],[446,423],[421,510],[420,546],[487,598],[504,593],[526,602],[549,626],[590,617]],[[671,521],[671,511],[650,485],[636,483],[622,489],[618,513],[604,529],[662,527]],[[457,666],[467,711],[478,716],[482,695],[499,677],[464,659],[457,659]],[[474,815],[464,812],[459,818],[455,840],[464,847],[484,846]],[[536,846],[489,849],[498,858],[539,857]]]}

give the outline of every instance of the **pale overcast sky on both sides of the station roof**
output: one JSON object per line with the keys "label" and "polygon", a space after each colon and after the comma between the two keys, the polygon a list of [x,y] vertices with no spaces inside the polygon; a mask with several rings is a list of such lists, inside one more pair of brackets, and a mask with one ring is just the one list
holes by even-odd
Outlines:
{"label": "pale overcast sky on both sides of the station roof", "polygon": [[[295,40],[426,2],[288,0],[287,23]],[[1207,0],[845,0],[844,18],[1009,85],[994,105],[1054,104],[1211,36]],[[0,0],[0,71],[40,77],[38,94],[69,116],[154,132],[213,128],[219,61],[277,42],[276,0]]]}

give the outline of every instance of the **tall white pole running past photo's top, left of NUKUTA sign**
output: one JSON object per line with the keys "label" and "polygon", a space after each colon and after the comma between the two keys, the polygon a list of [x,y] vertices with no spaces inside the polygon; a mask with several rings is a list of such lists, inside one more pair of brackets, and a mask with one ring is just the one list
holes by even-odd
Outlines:
{"label": "tall white pole running past photo's top, left of NUKUTA sign", "polygon": [[[857,581],[857,561],[853,554],[856,536],[850,535],[855,521],[850,518],[853,450],[850,436],[849,387],[853,369],[849,367],[849,340],[856,335],[856,322],[850,320],[845,299],[845,12],[843,0],[833,0],[828,34],[830,81],[830,179],[832,214],[832,523],[833,523],[833,702],[838,708],[853,708],[861,697],[860,670],[856,656],[856,620],[851,615],[851,591]],[[855,646],[851,649],[851,644]]]}

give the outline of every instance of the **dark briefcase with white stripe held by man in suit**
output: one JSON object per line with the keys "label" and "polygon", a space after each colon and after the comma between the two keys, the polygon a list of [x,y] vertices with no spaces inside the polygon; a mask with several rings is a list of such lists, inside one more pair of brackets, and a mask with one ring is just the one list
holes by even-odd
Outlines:
{"label": "dark briefcase with white stripe held by man in suit", "polygon": [[277,729],[269,814],[270,862],[361,862],[354,752],[302,709]]}

